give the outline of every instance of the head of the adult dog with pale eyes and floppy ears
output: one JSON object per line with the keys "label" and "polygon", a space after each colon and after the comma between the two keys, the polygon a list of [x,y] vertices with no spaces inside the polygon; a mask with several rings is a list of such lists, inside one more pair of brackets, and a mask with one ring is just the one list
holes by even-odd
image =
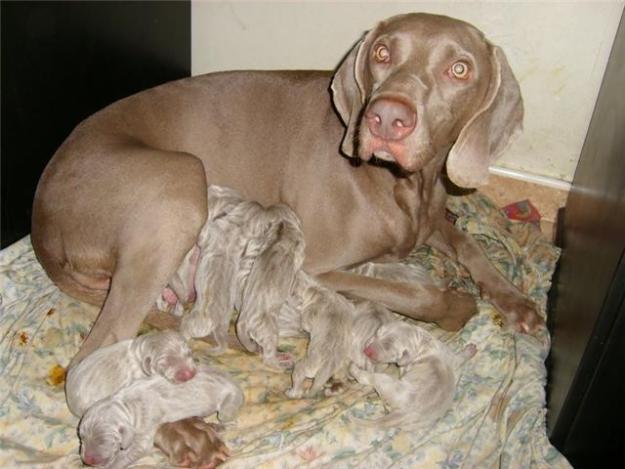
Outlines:
{"label": "head of the adult dog with pale eyes and floppy ears", "polygon": [[408,172],[449,151],[461,187],[486,182],[488,166],[521,129],[523,103],[501,49],[475,27],[407,14],[369,31],[332,81],[347,126],[347,156],[392,161]]}

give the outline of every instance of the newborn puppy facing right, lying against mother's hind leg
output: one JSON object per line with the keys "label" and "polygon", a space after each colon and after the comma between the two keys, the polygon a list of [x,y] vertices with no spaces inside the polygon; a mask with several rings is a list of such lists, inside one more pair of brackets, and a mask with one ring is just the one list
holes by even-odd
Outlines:
{"label": "newborn puppy facing right, lying against mother's hind leg", "polygon": [[98,349],[71,367],[65,382],[67,406],[80,417],[93,403],[136,379],[160,375],[181,383],[195,372],[191,349],[178,332],[145,334]]}

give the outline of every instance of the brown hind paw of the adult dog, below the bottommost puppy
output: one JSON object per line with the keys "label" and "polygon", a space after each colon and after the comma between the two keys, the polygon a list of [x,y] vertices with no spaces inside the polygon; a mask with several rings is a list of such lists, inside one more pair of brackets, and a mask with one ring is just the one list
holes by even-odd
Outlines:
{"label": "brown hind paw of the adult dog, below the bottommost puppy", "polygon": [[198,417],[166,423],[159,427],[154,445],[165,453],[172,465],[214,468],[230,456],[218,429],[219,426]]}

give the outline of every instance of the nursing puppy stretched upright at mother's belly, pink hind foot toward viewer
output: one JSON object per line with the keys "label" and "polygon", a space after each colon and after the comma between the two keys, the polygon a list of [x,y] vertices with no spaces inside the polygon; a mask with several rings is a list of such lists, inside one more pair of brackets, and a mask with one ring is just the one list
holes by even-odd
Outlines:
{"label": "nursing puppy stretched upright at mother's belly, pink hind foot toward viewer", "polygon": [[278,317],[291,296],[304,262],[304,235],[299,219],[286,205],[268,207],[251,223],[277,227],[275,239],[254,260],[245,280],[237,320],[237,337],[248,351],[262,351],[263,362],[274,368],[292,366],[288,354],[278,353]]}

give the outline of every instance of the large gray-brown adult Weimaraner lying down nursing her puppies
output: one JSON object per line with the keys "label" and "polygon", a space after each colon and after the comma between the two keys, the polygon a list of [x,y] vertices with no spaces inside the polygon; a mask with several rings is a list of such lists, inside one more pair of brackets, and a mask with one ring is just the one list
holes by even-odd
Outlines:
{"label": "large gray-brown adult Weimaraner lying down nursing her puppies", "polygon": [[[534,331],[534,304],[445,221],[441,177],[484,183],[522,116],[502,51],[429,14],[382,21],[334,74],[215,73],[110,105],[62,144],[34,200],[32,242],[48,275],[102,305],[77,359],[135,336],[204,224],[207,184],[292,207],[305,270],[338,291],[462,327],[475,312],[468,295],[342,271],[427,243],[464,264],[508,324]],[[170,457],[210,461],[199,427],[184,424],[168,429]]]}

